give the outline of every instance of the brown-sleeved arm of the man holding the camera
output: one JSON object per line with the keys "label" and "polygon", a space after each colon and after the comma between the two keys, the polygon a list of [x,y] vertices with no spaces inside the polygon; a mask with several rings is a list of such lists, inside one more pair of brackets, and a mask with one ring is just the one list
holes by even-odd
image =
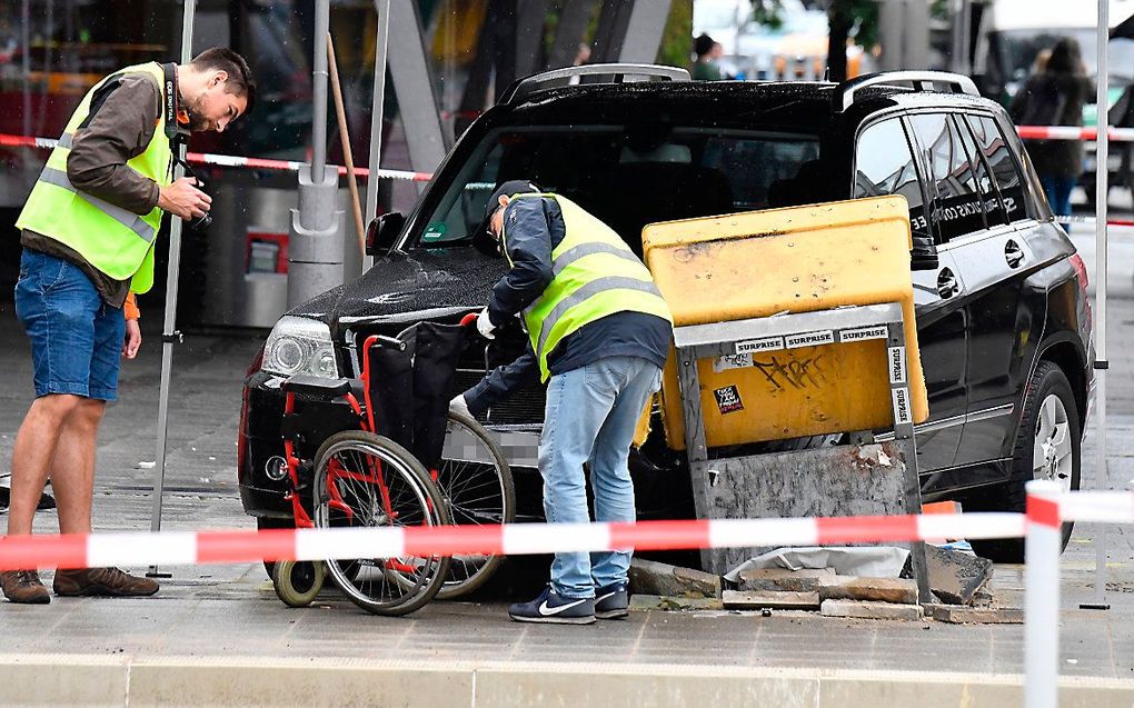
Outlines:
{"label": "brown-sleeved arm of the man holding the camera", "polygon": [[67,177],[79,191],[135,214],[158,205],[153,180],[126,162],[145,152],[156,129],[161,91],[153,78],[127,75],[95,95],[91,114],[74,136],[67,155]]}

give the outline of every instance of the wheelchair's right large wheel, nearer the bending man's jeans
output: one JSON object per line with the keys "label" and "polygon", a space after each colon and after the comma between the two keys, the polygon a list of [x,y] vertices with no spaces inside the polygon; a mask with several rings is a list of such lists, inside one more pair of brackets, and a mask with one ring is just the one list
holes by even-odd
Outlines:
{"label": "wheelchair's right large wheel, nearer the bending man's jeans", "polygon": [[[484,426],[469,416],[449,413],[441,468],[434,480],[454,523],[516,520],[516,489],[508,461]],[[488,554],[452,556],[438,598],[454,599],[480,588],[502,560]]]}

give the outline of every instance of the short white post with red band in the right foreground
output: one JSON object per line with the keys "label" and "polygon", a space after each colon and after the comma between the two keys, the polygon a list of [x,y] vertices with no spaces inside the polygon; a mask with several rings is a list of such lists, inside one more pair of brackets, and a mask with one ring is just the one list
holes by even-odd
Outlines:
{"label": "short white post with red band in the right foreground", "polygon": [[1059,485],[1027,483],[1024,541],[1024,707],[1059,703]]}

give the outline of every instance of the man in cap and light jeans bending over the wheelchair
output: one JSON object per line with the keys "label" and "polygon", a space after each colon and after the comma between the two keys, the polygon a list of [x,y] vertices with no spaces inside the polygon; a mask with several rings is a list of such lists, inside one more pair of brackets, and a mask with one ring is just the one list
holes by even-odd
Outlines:
{"label": "man in cap and light jeans bending over the wheelchair", "polygon": [[[483,227],[510,270],[476,319],[488,339],[521,315],[530,347],[514,364],[455,398],[488,410],[538,377],[548,386],[539,463],[551,523],[586,523],[583,464],[598,521],[634,521],[627,468],[635,425],[661,385],[672,317],[650,271],[613,230],[570,199],[511,180],[490,197]],[[627,614],[631,554],[557,553],[551,583],[509,607],[518,622],[590,624]]]}

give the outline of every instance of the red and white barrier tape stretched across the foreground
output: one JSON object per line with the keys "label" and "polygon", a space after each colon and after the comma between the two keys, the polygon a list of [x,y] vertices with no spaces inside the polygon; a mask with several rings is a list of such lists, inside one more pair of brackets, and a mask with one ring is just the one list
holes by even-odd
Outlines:
{"label": "red and white barrier tape stretched across the foreground", "polygon": [[1023,535],[1023,514],[970,513],[637,523],[510,523],[5,536],[0,537],[0,571],[477,553],[525,555],[611,548],[665,551],[821,546],[934,538],[1008,538]]}

